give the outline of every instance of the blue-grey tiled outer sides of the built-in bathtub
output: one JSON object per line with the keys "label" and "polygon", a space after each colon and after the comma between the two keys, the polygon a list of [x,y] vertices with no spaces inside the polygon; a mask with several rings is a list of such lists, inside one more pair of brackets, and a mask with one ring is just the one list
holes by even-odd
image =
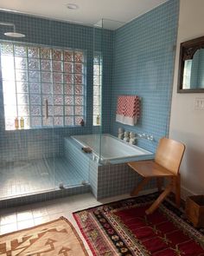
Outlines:
{"label": "blue-grey tiled outer sides of the built-in bathtub", "polygon": [[[89,175],[89,183],[92,194],[97,200],[105,197],[128,194],[134,187],[137,187],[141,177],[126,163],[101,165],[93,160],[92,154],[84,153],[80,145],[72,138],[65,139],[65,152],[69,161],[73,164],[78,163],[78,169],[83,170],[83,174]],[[71,156],[71,159],[70,159]],[[146,159],[147,156],[140,156],[140,160]],[[152,156],[149,156],[152,158]],[[80,159],[80,162],[77,161]],[[127,161],[124,159],[124,161]],[[151,181],[145,189],[155,188],[155,181]]]}

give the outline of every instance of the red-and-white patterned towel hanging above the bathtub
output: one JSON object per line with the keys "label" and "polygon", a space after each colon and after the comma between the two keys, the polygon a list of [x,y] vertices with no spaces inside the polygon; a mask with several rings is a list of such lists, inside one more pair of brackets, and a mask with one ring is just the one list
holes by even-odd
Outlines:
{"label": "red-and-white patterned towel hanging above the bathtub", "polygon": [[118,96],[116,121],[134,126],[140,115],[139,103],[137,95]]}

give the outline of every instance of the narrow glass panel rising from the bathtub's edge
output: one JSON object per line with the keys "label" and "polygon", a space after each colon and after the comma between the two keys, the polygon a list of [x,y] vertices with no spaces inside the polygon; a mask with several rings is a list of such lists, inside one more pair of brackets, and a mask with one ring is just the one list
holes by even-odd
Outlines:
{"label": "narrow glass panel rising from the bathtub's edge", "polygon": [[94,25],[93,39],[93,101],[92,133],[97,137],[95,148],[98,148],[99,163],[106,164],[108,137],[111,132],[111,88],[113,62],[113,35],[124,23],[102,19]]}

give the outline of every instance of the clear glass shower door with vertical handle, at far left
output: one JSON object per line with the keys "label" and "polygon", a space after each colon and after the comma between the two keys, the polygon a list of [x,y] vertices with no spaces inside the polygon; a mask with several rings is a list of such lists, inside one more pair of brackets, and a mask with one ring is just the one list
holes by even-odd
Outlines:
{"label": "clear glass shower door with vertical handle, at far left", "polygon": [[[21,23],[19,30],[25,30],[24,26]],[[48,22],[44,26],[51,28]],[[33,29],[29,23],[29,30]],[[52,95],[48,91],[52,80],[42,64],[46,62],[49,69],[51,49],[42,40],[43,32],[38,33],[28,32],[15,41],[3,33],[0,37],[0,200],[54,189]]]}

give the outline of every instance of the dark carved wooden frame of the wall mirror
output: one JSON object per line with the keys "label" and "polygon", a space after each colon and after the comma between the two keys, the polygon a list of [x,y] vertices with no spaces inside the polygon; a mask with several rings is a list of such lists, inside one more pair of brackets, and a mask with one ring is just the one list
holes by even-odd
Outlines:
{"label": "dark carved wooden frame of the wall mirror", "polygon": [[177,93],[204,93],[204,88],[182,89],[184,62],[193,59],[197,49],[204,49],[204,36],[183,42],[180,45]]}

